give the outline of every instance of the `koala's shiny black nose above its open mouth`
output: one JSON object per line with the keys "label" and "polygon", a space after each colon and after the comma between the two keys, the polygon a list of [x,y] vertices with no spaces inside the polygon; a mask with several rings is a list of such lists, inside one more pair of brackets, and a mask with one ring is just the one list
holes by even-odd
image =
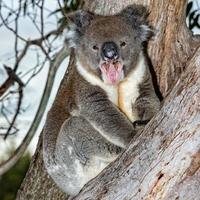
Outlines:
{"label": "koala's shiny black nose above its open mouth", "polygon": [[108,59],[118,58],[117,45],[114,42],[105,42],[102,46],[102,57]]}

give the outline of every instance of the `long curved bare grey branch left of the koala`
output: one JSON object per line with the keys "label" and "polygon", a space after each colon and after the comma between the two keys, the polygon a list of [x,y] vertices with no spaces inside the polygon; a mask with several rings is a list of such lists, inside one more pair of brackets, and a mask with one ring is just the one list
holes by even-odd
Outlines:
{"label": "long curved bare grey branch left of the koala", "polygon": [[49,72],[48,72],[48,78],[46,82],[46,86],[44,89],[44,93],[42,96],[42,99],[40,101],[40,105],[37,111],[37,114],[32,122],[32,125],[27,132],[25,138],[23,139],[21,145],[16,149],[14,154],[4,163],[0,165],[0,176],[7,172],[11,167],[13,167],[16,162],[21,158],[21,156],[24,154],[25,150],[27,149],[28,145],[30,144],[40,122],[43,117],[44,111],[47,106],[47,102],[49,100],[49,96],[51,94],[51,90],[53,87],[55,74],[63,62],[63,60],[70,54],[70,50],[66,49],[66,47],[63,47],[56,55],[54,60],[51,61],[49,66]]}

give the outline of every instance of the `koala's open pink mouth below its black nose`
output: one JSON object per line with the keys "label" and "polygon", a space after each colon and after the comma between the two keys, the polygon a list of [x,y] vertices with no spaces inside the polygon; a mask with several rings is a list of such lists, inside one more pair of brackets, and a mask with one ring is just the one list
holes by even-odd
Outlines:
{"label": "koala's open pink mouth below its black nose", "polygon": [[123,65],[120,61],[107,60],[100,66],[101,72],[103,74],[103,79],[108,84],[115,85],[120,82],[123,76]]}

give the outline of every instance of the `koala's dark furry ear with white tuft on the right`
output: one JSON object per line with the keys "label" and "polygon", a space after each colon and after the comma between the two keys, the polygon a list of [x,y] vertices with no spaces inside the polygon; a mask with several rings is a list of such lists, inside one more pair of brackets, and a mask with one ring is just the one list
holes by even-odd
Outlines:
{"label": "koala's dark furry ear with white tuft on the right", "polygon": [[147,41],[154,35],[153,28],[148,25],[148,15],[149,12],[146,7],[136,4],[128,6],[120,12],[120,16],[131,23],[134,30],[137,30],[142,42]]}

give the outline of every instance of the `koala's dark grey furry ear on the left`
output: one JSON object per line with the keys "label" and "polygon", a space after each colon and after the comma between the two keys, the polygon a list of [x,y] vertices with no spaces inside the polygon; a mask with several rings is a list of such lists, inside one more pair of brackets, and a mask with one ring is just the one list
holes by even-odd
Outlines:
{"label": "koala's dark grey furry ear on the left", "polygon": [[94,18],[94,14],[84,10],[78,10],[67,16],[68,20],[75,25],[75,28],[80,32],[84,32],[85,28],[90,24]]}

